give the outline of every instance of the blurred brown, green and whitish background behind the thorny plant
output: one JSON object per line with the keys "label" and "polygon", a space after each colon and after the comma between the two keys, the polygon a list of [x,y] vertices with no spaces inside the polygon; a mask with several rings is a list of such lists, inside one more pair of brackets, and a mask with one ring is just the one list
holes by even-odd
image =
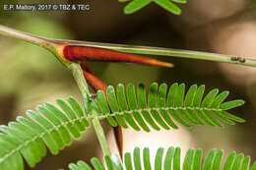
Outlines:
{"label": "blurred brown, green and whitish background behind the thorny plant", "polygon": [[[174,16],[155,4],[133,14],[124,15],[125,4],[117,0],[92,0],[90,12],[6,12],[7,3],[38,3],[38,0],[4,0],[0,2],[0,24],[37,35],[59,39],[77,39],[108,43],[151,45],[201,50],[256,58],[256,11],[248,0],[188,0],[181,5],[182,15]],[[43,3],[72,3],[64,0],[43,0]],[[83,1],[75,1],[76,3]],[[72,95],[79,98],[78,87],[67,69],[52,54],[32,44],[0,36],[0,123],[14,121],[28,109],[46,101]],[[189,147],[224,148],[256,159],[254,138],[256,128],[256,69],[224,63],[154,57],[175,65],[173,69],[131,64],[93,63],[96,74],[107,84],[150,85],[153,82],[206,85],[229,90],[229,99],[246,101],[232,110],[247,122],[224,129],[195,127],[153,132],[124,132],[125,150],[134,146],[179,145]],[[109,144],[116,151],[110,127],[103,124]],[[157,141],[156,141],[157,140]],[[48,154],[35,169],[67,168],[69,162],[100,157],[101,150],[93,130],[83,139],[53,156]],[[28,167],[28,169],[30,169]]]}

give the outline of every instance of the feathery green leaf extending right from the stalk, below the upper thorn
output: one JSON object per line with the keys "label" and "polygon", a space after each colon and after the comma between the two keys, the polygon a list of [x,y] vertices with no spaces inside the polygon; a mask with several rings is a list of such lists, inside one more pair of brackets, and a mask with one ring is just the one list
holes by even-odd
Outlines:
{"label": "feathery green leaf extending right from the stalk, below the upper thorn", "polygon": [[[145,85],[117,85],[107,87],[107,99],[103,91],[97,91],[97,103],[101,112],[99,119],[107,118],[112,126],[131,127],[136,131],[149,132],[171,128],[178,124],[190,128],[193,125],[224,127],[223,123],[234,125],[243,119],[227,112],[244,103],[243,100],[224,102],[228,92],[212,89],[205,93],[205,85],[191,85],[188,91],[184,84],[158,85],[154,83],[146,91]],[[107,104],[106,101],[109,101]],[[108,106],[109,105],[109,106]],[[110,110],[112,114],[110,114]]]}

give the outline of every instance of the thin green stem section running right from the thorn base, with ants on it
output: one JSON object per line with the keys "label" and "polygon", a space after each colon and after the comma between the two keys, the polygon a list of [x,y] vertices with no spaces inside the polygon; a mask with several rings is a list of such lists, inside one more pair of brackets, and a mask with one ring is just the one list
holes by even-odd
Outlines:
{"label": "thin green stem section running right from the thorn base, with ants on it", "polygon": [[162,47],[151,47],[151,46],[140,46],[140,45],[126,45],[126,44],[111,44],[111,43],[100,43],[100,42],[89,42],[89,41],[74,41],[74,40],[61,40],[73,45],[84,45],[92,47],[107,48],[111,50],[133,53],[133,54],[148,54],[148,55],[160,55],[169,56],[177,58],[188,58],[188,59],[199,59],[208,61],[217,61],[231,64],[238,64],[244,66],[256,67],[256,59],[248,57],[240,57],[244,59],[244,62],[231,60],[230,55],[201,52],[201,51],[191,51],[191,50],[181,50],[172,48],[162,48]]}

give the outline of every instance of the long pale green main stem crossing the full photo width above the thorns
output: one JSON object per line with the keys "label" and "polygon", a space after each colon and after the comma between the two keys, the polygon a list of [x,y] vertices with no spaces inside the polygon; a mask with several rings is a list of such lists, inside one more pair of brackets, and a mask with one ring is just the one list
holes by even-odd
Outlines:
{"label": "long pale green main stem crossing the full photo width above the thorns", "polygon": [[[42,46],[50,50],[53,54],[56,55],[56,47],[60,44],[66,45],[84,45],[84,46],[93,46],[107,48],[111,50],[134,53],[134,54],[148,54],[148,55],[160,55],[160,56],[170,56],[178,58],[189,58],[189,59],[199,59],[199,60],[208,60],[208,61],[218,61],[231,64],[239,64],[244,66],[256,67],[256,60],[253,58],[244,58],[244,62],[233,61],[231,56],[209,53],[209,52],[200,52],[200,51],[190,51],[190,50],[181,50],[181,49],[172,49],[172,48],[161,48],[161,47],[151,47],[151,46],[139,46],[139,45],[123,45],[123,44],[111,44],[111,43],[100,43],[100,42],[89,42],[89,41],[76,41],[76,40],[59,40],[59,39],[49,39],[44,37],[39,37],[26,33],[14,28],[7,28],[0,25],[0,34],[15,37],[22,39],[33,44]],[[56,55],[58,59],[65,65],[69,66],[70,63],[63,61]]]}

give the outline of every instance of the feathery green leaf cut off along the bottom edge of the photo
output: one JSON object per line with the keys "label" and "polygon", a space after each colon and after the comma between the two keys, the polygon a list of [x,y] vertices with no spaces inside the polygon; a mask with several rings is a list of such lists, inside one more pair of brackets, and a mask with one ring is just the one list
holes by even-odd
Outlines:
{"label": "feathery green leaf cut off along the bottom edge of the photo", "polygon": [[[143,154],[143,156],[141,156]],[[112,157],[112,156],[111,156]],[[250,156],[244,156],[242,153],[236,155],[233,151],[227,155],[224,159],[224,150],[212,149],[205,156],[203,161],[203,150],[201,148],[187,150],[184,162],[181,166],[181,149],[180,147],[169,147],[167,151],[160,147],[157,151],[156,157],[151,162],[150,149],[144,148],[141,153],[141,149],[136,147],[133,154],[126,152],[124,156],[124,163],[118,164],[118,169],[127,170],[151,170],[154,167],[155,170],[249,170],[250,169]],[[112,170],[114,169],[114,162],[120,162],[116,159],[111,159],[109,156],[105,156],[104,164],[102,165],[96,158],[92,160],[93,166],[96,170]],[[111,163],[112,162],[112,163]],[[255,170],[255,164],[251,166],[251,170]],[[83,165],[83,167],[82,167]],[[223,165],[223,166],[222,166]],[[144,166],[144,167],[143,167]],[[77,164],[71,163],[69,165],[70,170],[88,170],[89,165],[83,161],[78,161]],[[117,167],[117,166],[116,166]]]}

